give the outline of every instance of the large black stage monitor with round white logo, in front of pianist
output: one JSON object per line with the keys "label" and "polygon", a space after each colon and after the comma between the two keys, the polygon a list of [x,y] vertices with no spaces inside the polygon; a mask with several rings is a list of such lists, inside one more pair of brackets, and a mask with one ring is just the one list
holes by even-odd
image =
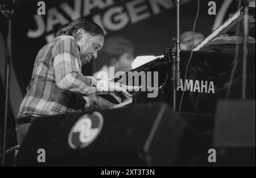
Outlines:
{"label": "large black stage monitor with round white logo, in front of pianist", "polygon": [[38,118],[16,166],[199,166],[207,153],[183,118],[154,103]]}

